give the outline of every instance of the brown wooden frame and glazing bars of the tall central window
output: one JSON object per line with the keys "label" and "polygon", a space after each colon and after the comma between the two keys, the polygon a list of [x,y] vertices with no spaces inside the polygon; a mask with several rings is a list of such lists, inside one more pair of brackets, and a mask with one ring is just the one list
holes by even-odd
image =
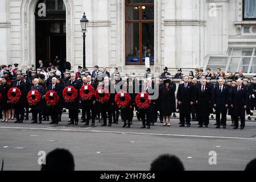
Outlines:
{"label": "brown wooden frame and glazing bars of the tall central window", "polygon": [[[144,65],[145,63],[143,62],[143,57],[142,57],[142,26],[143,26],[143,23],[153,23],[154,26],[155,26],[155,19],[152,19],[152,20],[143,20],[142,19],[142,8],[139,8],[139,19],[138,20],[128,20],[127,19],[127,7],[134,7],[134,6],[148,6],[148,7],[153,7],[155,8],[154,6],[154,2],[153,3],[127,3],[127,1],[125,1],[125,64],[126,65]],[[154,17],[155,18],[155,17]],[[128,48],[127,48],[127,26],[129,23],[138,23],[139,24],[139,63],[134,63],[134,62],[127,62],[127,53],[129,52],[128,51]],[[154,30],[155,31],[155,30]],[[155,45],[154,45],[155,46]],[[154,51],[154,49],[153,49]],[[155,59],[155,58],[154,58]],[[154,65],[154,62],[150,62],[150,65]]]}

